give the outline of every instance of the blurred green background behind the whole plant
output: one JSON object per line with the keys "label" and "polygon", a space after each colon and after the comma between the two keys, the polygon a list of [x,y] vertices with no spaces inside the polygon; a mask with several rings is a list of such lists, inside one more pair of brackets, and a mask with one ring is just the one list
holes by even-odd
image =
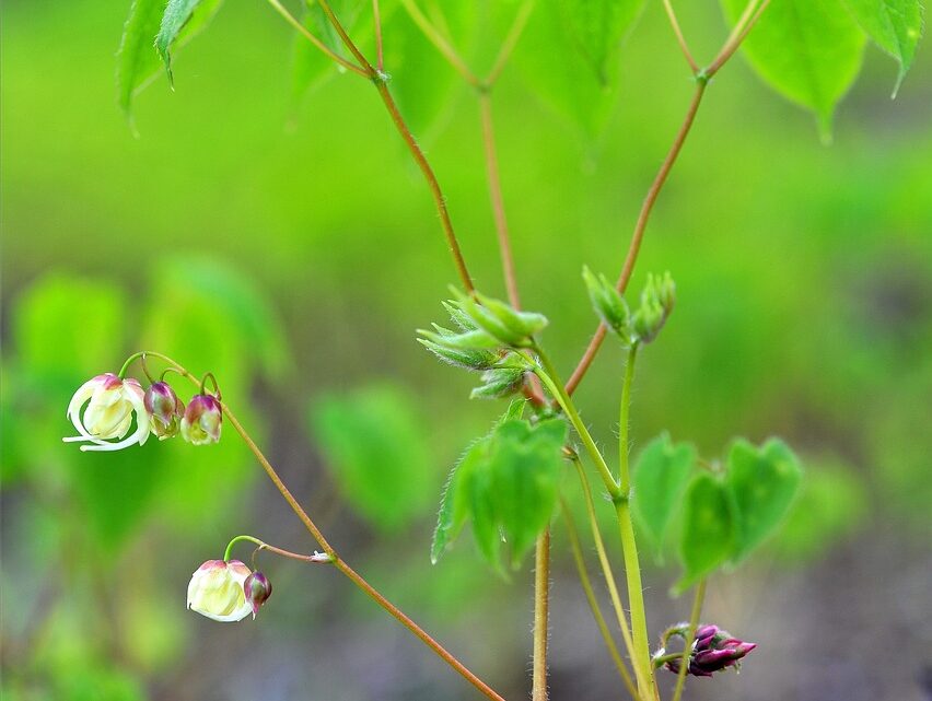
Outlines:
{"label": "blurred green background behind the whole plant", "polygon": [[[680,4],[711,56],[717,4]],[[126,5],[3,4],[3,698],[476,698],[331,571],[261,556],[276,594],[256,622],[185,611],[232,536],[313,544],[229,427],[206,448],[60,442],[73,390],[140,348],[212,371],[341,554],[522,698],[529,571],[502,582],[468,536],[429,564],[446,472],[502,407],[413,341],[454,270],[374,91],[337,75],[295,97],[290,30],[230,2],[175,92],[141,94],[135,138],[113,79]],[[569,374],[594,328],[580,270],[617,273],[691,85],[659,2],[598,138],[534,97],[520,59],[494,95],[504,198],[524,304]],[[476,101],[423,47],[392,72],[477,283],[503,295]],[[895,73],[866,49],[827,147],[738,57],[648,230],[632,289],[668,269],[679,301],[639,363],[636,449],[667,429],[711,459],[773,433],[807,466],[783,534],[711,585],[703,618],[760,649],[696,699],[930,698],[932,54],[893,102]],[[620,362],[606,348],[578,393],[609,452]],[[620,698],[559,525],[554,547],[552,698]],[[654,632],[687,615],[675,576],[646,572]]]}

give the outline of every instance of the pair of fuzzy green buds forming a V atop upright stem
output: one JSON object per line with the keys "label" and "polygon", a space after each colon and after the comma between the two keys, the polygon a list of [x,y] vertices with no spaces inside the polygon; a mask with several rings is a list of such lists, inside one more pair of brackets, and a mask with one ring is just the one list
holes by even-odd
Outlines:
{"label": "pair of fuzzy green buds forming a V atop upright stem", "polygon": [[633,314],[625,297],[605,276],[596,277],[589,268],[583,268],[583,280],[595,313],[626,347],[654,340],[676,303],[676,284],[668,272],[648,276],[640,306]]}

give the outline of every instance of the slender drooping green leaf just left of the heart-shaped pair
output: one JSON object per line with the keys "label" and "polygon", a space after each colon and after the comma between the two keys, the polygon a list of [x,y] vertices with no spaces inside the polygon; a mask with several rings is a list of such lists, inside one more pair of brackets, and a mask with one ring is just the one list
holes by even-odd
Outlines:
{"label": "slender drooping green leaf just left of the heart-shaped pair", "polygon": [[688,443],[674,445],[664,433],[648,444],[634,465],[631,510],[657,561],[695,464],[696,448]]}

